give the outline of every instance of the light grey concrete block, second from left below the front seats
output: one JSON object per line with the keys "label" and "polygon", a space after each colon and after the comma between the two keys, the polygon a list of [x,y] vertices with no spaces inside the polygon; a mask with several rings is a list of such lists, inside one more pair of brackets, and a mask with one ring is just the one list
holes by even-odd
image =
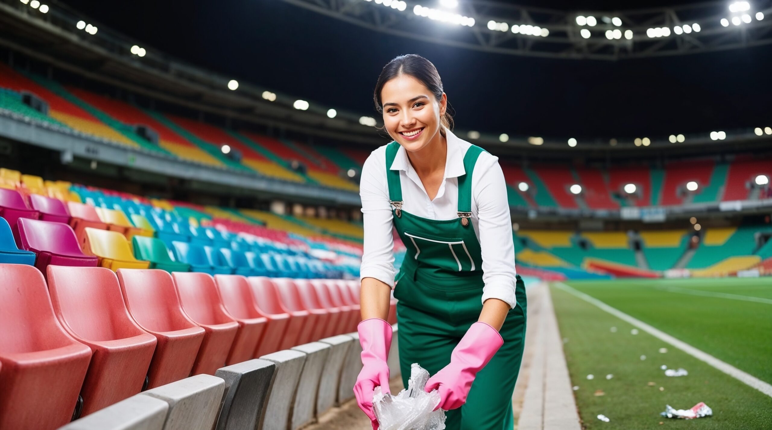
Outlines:
{"label": "light grey concrete block, second from left below the front seats", "polygon": [[212,430],[224,389],[222,378],[195,375],[138,395],[157,398],[169,405],[164,430]]}

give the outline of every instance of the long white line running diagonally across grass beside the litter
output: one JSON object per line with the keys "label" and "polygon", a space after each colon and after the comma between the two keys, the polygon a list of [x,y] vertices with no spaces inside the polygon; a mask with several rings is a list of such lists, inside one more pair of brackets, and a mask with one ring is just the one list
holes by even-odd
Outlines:
{"label": "long white line running diagonally across grass beside the litter", "polygon": [[686,354],[689,354],[692,357],[697,358],[699,360],[705,361],[707,364],[710,364],[714,368],[717,368],[720,371],[723,371],[724,373],[726,373],[726,375],[730,375],[731,377],[736,378],[739,381],[742,381],[746,385],[749,385],[752,388],[756,388],[758,391],[763,392],[765,395],[772,397],[772,385],[768,384],[767,382],[764,382],[759,378],[756,378],[755,376],[750,375],[749,373],[741,371],[740,369],[734,367],[733,365],[725,363],[724,361],[721,361],[718,358],[713,357],[713,355],[700,351],[699,349],[694,348],[692,345],[687,344],[684,341],[679,341],[678,339],[673,338],[671,335],[665,333],[664,331],[660,331],[656,328],[653,328],[652,326],[646,324],[645,322],[640,321],[634,317],[631,317],[630,315],[625,314],[622,311],[619,311],[615,307],[611,307],[608,304],[605,304],[602,301],[599,301],[595,297],[591,297],[587,294],[582,293],[581,291],[574,290],[574,288],[569,287],[568,285],[562,282],[553,282],[552,284],[555,287],[560,288],[560,290],[566,291],[567,293],[574,294],[574,296],[581,298],[587,303],[594,304],[595,306],[600,307],[601,310],[606,311],[609,314],[612,314],[623,321],[627,321],[632,325],[635,325],[635,327],[640,328],[643,331],[646,331],[648,334],[651,334],[655,338],[658,338],[660,341],[669,343],[675,348],[679,348],[681,351],[686,352]]}

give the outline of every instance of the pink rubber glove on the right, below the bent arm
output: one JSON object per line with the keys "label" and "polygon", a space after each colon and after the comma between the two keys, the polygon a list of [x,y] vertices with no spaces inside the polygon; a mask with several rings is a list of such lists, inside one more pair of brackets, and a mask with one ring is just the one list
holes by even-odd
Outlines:
{"label": "pink rubber glove on the right, below the bent arm", "polygon": [[[439,405],[445,411],[460,408],[466,403],[469,388],[477,372],[488,364],[504,340],[495,328],[484,322],[476,322],[450,354],[450,364],[426,381],[426,392],[439,391]],[[435,411],[437,410],[435,408]]]}

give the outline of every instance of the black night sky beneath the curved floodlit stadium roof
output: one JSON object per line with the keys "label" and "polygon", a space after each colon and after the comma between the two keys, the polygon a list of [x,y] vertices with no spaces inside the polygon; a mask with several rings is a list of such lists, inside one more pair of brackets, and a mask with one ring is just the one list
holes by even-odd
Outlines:
{"label": "black night sky beneath the curved floodlit stadium roof", "polygon": [[[279,0],[66,3],[148,49],[361,115],[375,115],[372,90],[384,64],[417,53],[437,66],[460,129],[581,138],[772,125],[772,45],[618,62],[537,59],[384,35]],[[628,0],[625,7],[674,3]]]}

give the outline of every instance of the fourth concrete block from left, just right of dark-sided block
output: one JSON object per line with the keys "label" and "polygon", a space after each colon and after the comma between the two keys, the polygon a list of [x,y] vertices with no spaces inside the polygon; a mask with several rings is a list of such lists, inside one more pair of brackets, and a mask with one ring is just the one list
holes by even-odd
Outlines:
{"label": "fourth concrete block from left, just right of dark-sided block", "polygon": [[260,357],[261,360],[276,364],[273,381],[269,388],[269,397],[262,414],[258,430],[287,430],[289,412],[295,398],[295,391],[306,354],[300,351],[278,351]]}

